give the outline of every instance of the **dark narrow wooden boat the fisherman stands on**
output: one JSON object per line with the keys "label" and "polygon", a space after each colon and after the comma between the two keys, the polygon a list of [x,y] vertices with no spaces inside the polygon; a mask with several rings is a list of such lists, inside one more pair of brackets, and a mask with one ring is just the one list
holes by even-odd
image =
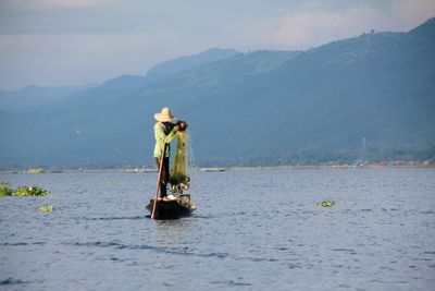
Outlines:
{"label": "dark narrow wooden boat the fisherman stands on", "polygon": [[[146,208],[152,214],[154,199],[150,199]],[[176,201],[158,201],[156,219],[177,219],[189,216],[196,209],[195,203],[189,194],[177,196]]]}

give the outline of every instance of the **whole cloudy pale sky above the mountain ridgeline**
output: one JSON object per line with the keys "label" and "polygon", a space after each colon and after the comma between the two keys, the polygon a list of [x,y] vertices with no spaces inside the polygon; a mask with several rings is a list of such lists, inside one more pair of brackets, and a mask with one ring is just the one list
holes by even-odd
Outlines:
{"label": "whole cloudy pale sky above the mountain ridgeline", "polygon": [[435,0],[0,0],[0,88],[145,75],[209,48],[306,50],[433,16]]}

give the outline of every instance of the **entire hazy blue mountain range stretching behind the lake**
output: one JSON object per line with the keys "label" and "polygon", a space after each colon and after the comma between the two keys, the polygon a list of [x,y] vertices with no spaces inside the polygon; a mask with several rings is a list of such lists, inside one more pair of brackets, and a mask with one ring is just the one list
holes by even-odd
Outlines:
{"label": "entire hazy blue mountain range stretching behind the lake", "polygon": [[163,106],[189,123],[197,166],[434,159],[434,33],[430,20],[307,51],[237,53],[147,84],[159,74],[127,77],[119,94],[115,80],[98,95],[0,109],[0,165],[152,165]]}

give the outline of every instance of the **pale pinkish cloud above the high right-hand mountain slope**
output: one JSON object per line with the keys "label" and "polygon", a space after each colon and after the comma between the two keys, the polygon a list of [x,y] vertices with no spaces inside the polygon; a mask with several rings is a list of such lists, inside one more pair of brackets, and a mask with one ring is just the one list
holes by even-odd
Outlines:
{"label": "pale pinkish cloud above the high right-hand mountain slope", "polygon": [[394,1],[386,10],[361,4],[340,11],[302,11],[264,22],[274,47],[307,49],[375,29],[408,31],[435,15],[431,0]]}

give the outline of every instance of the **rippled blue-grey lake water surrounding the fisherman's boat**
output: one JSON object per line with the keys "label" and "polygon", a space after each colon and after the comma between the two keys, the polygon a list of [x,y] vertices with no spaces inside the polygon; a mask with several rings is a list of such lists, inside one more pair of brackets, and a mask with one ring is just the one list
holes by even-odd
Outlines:
{"label": "rippled blue-grey lake water surrounding the fisherman's boat", "polygon": [[172,221],[156,179],[0,175],[52,193],[0,198],[0,290],[435,290],[435,170],[194,172]]}

